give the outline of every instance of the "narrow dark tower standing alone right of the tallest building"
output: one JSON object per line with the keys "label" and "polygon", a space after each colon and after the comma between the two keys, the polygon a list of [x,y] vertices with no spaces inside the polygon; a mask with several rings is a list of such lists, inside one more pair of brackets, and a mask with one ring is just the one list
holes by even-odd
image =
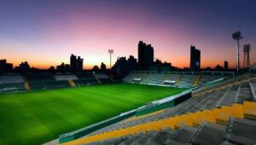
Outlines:
{"label": "narrow dark tower standing alone right of the tallest building", "polygon": [[190,70],[200,71],[201,69],[201,51],[195,49],[195,46],[190,46]]}

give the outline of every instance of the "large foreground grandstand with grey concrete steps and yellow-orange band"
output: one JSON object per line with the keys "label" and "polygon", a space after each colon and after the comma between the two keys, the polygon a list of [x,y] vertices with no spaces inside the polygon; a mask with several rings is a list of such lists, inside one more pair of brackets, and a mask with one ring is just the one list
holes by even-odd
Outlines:
{"label": "large foreground grandstand with grey concrete steps and yellow-orange band", "polygon": [[255,78],[247,75],[228,78],[194,90],[191,98],[175,107],[133,115],[62,143],[255,144],[255,90]]}

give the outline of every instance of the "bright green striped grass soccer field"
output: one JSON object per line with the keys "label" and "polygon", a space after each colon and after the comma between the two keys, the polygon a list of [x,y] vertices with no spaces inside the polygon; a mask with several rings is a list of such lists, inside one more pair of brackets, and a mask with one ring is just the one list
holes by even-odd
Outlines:
{"label": "bright green striped grass soccer field", "polygon": [[0,144],[41,144],[183,89],[103,84],[0,94]]}

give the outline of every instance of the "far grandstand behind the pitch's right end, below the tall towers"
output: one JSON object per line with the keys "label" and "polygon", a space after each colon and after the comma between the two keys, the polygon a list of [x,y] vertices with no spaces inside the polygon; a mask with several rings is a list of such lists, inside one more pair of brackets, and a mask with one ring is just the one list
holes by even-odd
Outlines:
{"label": "far grandstand behind the pitch's right end, below the tall towers", "polygon": [[232,78],[234,73],[230,72],[132,72],[127,75],[123,81],[125,83],[138,84],[165,84],[178,88],[193,88],[199,85],[206,85],[212,81],[224,78]]}

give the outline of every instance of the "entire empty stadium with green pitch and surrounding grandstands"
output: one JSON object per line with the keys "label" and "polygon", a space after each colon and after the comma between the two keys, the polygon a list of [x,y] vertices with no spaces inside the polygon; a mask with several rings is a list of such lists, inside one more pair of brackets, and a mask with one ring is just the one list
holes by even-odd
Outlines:
{"label": "entire empty stadium with green pitch and surrounding grandstands", "polygon": [[123,83],[104,73],[0,78],[1,144],[255,142],[253,73],[131,72]]}

